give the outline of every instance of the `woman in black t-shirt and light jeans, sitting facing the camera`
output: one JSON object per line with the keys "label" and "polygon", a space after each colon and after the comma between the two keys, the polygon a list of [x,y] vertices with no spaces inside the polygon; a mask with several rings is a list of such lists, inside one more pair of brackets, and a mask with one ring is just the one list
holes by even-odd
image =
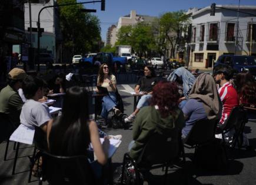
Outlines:
{"label": "woman in black t-shirt and light jeans, sitting facing the camera", "polygon": [[157,84],[158,78],[155,76],[155,70],[152,66],[145,66],[144,75],[145,76],[142,76],[139,79],[137,85],[135,86],[134,92],[137,94],[144,93],[145,95],[141,96],[135,111],[125,118],[125,122],[132,122],[139,110],[142,107],[149,105],[149,99],[152,97],[152,89],[155,84]]}

